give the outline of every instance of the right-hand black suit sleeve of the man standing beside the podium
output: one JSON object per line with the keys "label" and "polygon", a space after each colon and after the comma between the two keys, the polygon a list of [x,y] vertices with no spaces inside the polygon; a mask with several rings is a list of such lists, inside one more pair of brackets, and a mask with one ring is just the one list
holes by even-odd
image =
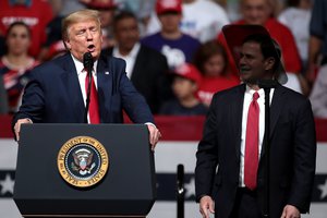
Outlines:
{"label": "right-hand black suit sleeve of the man standing beside the podium", "polygon": [[307,213],[315,177],[316,133],[310,101],[305,99],[298,108],[294,123],[294,171],[288,204],[298,207],[301,213]]}

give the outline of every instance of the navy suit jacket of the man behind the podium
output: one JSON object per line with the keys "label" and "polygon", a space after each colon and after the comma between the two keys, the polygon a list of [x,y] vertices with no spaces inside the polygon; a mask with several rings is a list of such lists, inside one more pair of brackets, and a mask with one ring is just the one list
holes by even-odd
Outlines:
{"label": "navy suit jacket of the man behind the podium", "polygon": [[[36,123],[83,123],[85,106],[70,53],[35,68],[32,76],[13,124],[21,118]],[[126,77],[123,60],[101,55],[97,85],[101,123],[121,123],[122,109],[133,122],[154,122],[146,101]]]}

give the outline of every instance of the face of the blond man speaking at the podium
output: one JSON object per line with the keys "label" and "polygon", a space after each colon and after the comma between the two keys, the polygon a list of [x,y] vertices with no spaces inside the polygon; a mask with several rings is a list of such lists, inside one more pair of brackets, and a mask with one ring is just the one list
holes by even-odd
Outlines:
{"label": "face of the blond man speaking at the podium", "polygon": [[81,21],[68,28],[65,45],[71,53],[80,61],[83,55],[89,51],[96,60],[101,51],[101,29],[99,23],[94,20]]}

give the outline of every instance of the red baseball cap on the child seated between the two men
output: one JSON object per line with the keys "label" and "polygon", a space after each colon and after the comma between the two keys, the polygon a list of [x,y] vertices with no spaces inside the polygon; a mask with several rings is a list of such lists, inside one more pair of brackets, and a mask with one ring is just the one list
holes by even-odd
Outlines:
{"label": "red baseball cap on the child seated between the two men", "polygon": [[192,63],[183,63],[174,69],[172,72],[174,75],[189,78],[199,86],[202,81],[202,75],[199,71]]}

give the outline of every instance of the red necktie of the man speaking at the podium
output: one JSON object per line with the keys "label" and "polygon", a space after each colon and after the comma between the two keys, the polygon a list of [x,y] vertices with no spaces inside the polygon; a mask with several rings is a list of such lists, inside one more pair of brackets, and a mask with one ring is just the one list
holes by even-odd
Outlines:
{"label": "red necktie of the man speaking at the podium", "polygon": [[[94,78],[93,78],[93,76],[90,76],[90,77],[92,77],[92,80],[90,80],[88,116],[89,116],[89,123],[97,124],[97,123],[100,123],[98,93],[97,93],[97,88],[95,87]],[[88,75],[86,73],[86,77],[85,77],[86,95],[87,95],[87,87],[88,87]]]}

